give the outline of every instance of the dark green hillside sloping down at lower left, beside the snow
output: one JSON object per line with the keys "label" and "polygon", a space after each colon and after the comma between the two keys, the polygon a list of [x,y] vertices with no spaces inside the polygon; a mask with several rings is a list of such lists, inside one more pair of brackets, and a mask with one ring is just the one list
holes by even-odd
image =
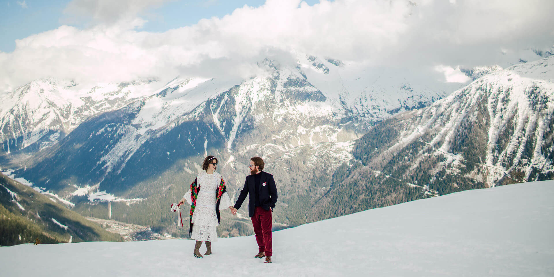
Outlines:
{"label": "dark green hillside sloping down at lower left, beside the snow", "polygon": [[58,202],[0,174],[0,245],[122,241]]}

